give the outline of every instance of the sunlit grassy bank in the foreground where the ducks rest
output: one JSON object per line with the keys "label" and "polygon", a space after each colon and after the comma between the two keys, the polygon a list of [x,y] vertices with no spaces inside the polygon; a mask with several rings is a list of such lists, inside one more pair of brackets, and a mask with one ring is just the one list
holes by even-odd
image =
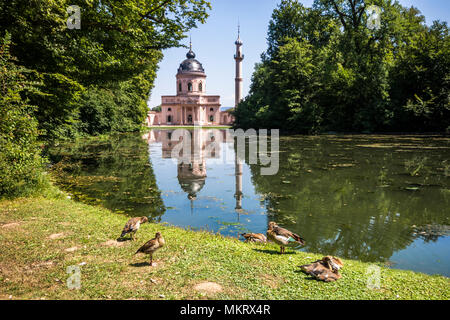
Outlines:
{"label": "sunlit grassy bank in the foreground where the ducks rest", "polygon": [[[323,254],[250,245],[204,232],[145,224],[135,242],[115,242],[126,216],[69,199],[0,202],[0,299],[449,299],[449,279],[381,269],[381,288],[366,287],[369,264],[344,260],[335,283],[297,267]],[[161,231],[154,258],[134,252]],[[325,254],[325,253],[324,253]],[[80,265],[81,289],[66,269]],[[205,285],[213,282],[221,287]],[[11,297],[10,297],[11,296]]]}

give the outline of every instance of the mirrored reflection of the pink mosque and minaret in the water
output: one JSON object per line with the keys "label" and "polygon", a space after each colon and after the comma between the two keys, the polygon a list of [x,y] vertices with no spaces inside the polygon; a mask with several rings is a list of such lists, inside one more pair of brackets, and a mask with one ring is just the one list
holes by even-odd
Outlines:
{"label": "mirrored reflection of the pink mosque and minaret in the water", "polygon": [[[177,159],[177,178],[193,209],[206,183],[207,159],[219,159],[222,147],[234,138],[227,130],[152,130],[144,136],[148,143],[162,144],[163,159]],[[242,210],[242,161],[235,155],[236,210]]]}

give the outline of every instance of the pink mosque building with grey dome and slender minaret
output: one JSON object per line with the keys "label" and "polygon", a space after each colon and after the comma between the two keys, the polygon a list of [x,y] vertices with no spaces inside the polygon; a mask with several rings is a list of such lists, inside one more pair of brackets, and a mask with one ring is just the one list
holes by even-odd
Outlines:
{"label": "pink mosque building with grey dome and slender minaret", "polygon": [[[235,42],[236,79],[235,107],[242,100],[242,41],[240,32]],[[231,125],[233,116],[221,111],[220,96],[206,94],[206,73],[190,50],[178,68],[175,96],[162,96],[161,111],[148,113],[147,126],[221,126]]]}

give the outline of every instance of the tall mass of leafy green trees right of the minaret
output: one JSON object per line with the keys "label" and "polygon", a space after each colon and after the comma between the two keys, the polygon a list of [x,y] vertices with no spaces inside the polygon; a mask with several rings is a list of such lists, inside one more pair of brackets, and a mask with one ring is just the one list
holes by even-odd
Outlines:
{"label": "tall mass of leafy green trees right of the minaret", "polygon": [[[381,10],[369,28],[367,9]],[[283,0],[237,127],[286,132],[445,131],[449,117],[446,23],[391,0]]]}

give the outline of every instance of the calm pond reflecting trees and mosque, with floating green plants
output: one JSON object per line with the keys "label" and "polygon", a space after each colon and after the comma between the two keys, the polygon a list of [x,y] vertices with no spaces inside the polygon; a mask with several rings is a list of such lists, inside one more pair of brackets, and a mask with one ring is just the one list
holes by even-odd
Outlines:
{"label": "calm pond reflecting trees and mosque, with floating green plants", "polygon": [[281,137],[278,173],[262,175],[225,130],[190,132],[184,162],[176,134],[53,146],[52,177],[118,214],[232,237],[273,220],[306,240],[303,251],[450,276],[450,138]]}

